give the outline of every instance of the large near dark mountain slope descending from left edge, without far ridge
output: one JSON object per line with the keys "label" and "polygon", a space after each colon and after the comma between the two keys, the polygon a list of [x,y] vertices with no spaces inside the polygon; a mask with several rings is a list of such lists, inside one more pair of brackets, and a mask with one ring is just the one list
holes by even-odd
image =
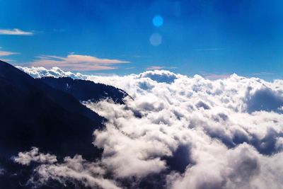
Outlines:
{"label": "large near dark mountain slope descending from left edge, without far ridge", "polygon": [[0,61],[0,100],[0,156],[33,146],[57,156],[99,156],[92,133],[104,119],[68,93]]}

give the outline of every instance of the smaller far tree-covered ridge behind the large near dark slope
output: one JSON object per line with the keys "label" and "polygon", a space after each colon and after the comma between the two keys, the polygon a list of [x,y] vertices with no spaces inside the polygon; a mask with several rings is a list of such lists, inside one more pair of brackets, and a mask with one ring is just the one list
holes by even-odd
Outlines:
{"label": "smaller far tree-covered ridge behind the large near dark slope", "polygon": [[123,104],[123,98],[129,96],[125,91],[108,86],[105,84],[96,84],[93,81],[81,79],[71,79],[69,77],[43,77],[40,81],[45,82],[61,91],[71,94],[79,101],[99,101],[101,99],[110,98],[115,103]]}

